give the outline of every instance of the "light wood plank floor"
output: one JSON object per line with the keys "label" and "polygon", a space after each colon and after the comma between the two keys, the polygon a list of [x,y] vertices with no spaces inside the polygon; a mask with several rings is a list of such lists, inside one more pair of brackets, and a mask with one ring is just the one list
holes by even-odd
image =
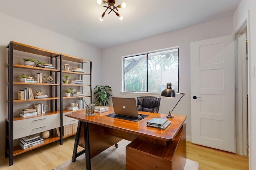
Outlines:
{"label": "light wood plank floor", "polygon": [[[0,158],[0,170],[52,170],[72,157],[74,136],[14,156],[14,164],[8,166],[8,158]],[[79,148],[78,150],[81,150]],[[187,158],[199,162],[199,170],[248,170],[248,157],[210,149],[187,142]]]}

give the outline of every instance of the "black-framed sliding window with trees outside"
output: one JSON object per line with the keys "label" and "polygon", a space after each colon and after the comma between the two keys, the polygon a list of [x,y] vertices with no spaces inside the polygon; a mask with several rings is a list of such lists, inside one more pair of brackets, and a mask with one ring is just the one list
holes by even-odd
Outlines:
{"label": "black-framed sliding window with trees outside", "polygon": [[178,49],[124,57],[124,92],[178,91]]}

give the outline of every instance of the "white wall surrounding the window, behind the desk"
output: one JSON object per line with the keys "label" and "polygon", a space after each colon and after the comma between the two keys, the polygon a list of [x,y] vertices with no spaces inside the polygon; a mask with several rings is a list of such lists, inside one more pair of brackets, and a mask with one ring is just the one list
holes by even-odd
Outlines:
{"label": "white wall surrounding the window, behind the desk", "polygon": [[[174,23],[175,24],[175,23]],[[102,50],[102,84],[112,87],[116,97],[136,98],[141,94],[122,92],[122,56],[179,46],[180,92],[185,93],[172,113],[186,115],[187,140],[191,140],[190,43],[232,34],[232,16]],[[157,95],[156,95],[157,96]],[[158,94],[159,96],[159,94]],[[168,98],[161,99],[160,113],[168,113]]]}

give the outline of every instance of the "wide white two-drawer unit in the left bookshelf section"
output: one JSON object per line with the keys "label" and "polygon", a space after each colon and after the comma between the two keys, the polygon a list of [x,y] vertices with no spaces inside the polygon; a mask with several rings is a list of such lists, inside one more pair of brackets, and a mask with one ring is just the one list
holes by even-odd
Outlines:
{"label": "wide white two-drawer unit in the left bookshelf section", "polygon": [[57,127],[60,127],[60,113],[14,121],[13,139],[48,131]]}

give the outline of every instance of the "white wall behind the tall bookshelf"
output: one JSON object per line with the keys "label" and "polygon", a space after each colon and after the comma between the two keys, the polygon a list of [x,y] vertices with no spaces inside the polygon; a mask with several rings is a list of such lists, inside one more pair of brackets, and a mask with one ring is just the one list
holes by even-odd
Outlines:
{"label": "white wall behind the tall bookshelf", "polygon": [[100,84],[101,50],[84,43],[75,41],[63,35],[48,31],[41,27],[18,20],[11,16],[0,13],[0,157],[4,156],[4,119],[8,117],[8,49],[6,46],[10,41],[47,49],[57,53],[72,55],[92,61],[92,86]]}

